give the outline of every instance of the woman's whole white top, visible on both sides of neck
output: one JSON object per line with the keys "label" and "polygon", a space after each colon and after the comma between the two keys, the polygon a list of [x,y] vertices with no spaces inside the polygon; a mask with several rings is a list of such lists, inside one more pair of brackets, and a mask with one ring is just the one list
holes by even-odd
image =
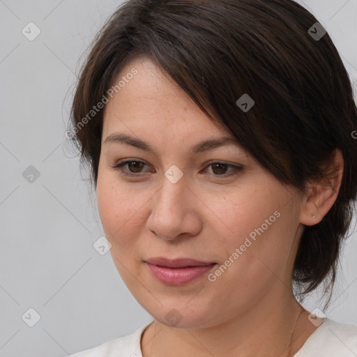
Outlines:
{"label": "woman's whole white top, visible on both sides of neck", "polygon": [[[294,357],[356,357],[357,326],[340,324],[327,317],[323,320]],[[72,357],[142,357],[140,340],[142,332],[150,324],[138,328],[130,335],[73,354]]]}

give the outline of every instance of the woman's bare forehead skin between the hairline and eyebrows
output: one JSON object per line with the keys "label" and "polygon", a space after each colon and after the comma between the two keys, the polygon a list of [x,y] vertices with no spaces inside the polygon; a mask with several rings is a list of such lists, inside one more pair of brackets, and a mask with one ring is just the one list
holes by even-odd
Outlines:
{"label": "woman's bare forehead skin between the hairline and eyebrows", "polygon": [[128,62],[114,79],[112,88],[119,82],[121,87],[116,87],[105,106],[103,132],[107,134],[130,123],[136,130],[145,126],[145,130],[166,128],[179,133],[188,126],[190,131],[206,135],[218,131],[230,135],[148,59]]}

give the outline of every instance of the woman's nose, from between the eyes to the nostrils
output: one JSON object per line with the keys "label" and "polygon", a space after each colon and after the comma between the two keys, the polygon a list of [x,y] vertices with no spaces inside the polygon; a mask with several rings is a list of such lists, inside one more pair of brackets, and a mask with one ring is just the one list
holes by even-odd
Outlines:
{"label": "woman's nose, from between the eyes to the nostrils", "polygon": [[151,199],[151,214],[146,228],[155,236],[168,241],[195,236],[202,227],[200,204],[202,202],[188,187],[184,177],[172,183],[164,176],[162,187]]}

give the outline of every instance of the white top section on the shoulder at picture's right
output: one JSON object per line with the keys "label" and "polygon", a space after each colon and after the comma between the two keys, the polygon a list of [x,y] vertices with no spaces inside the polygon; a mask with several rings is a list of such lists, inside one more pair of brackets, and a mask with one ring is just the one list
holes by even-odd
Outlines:
{"label": "white top section on the shoulder at picture's right", "polygon": [[295,356],[357,356],[357,326],[341,324],[325,317],[323,324],[312,333]]}

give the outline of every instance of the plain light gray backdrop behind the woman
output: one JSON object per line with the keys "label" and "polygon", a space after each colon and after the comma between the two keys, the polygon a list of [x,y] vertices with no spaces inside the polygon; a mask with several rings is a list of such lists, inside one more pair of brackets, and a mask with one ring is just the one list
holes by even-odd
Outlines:
{"label": "plain light gray backdrop behind the woman", "polygon": [[[0,0],[0,356],[63,357],[131,333],[151,316],[131,296],[103,234],[96,197],[66,142],[79,57],[120,1]],[[357,78],[357,0],[306,0]],[[40,36],[29,41],[29,22]],[[357,128],[356,128],[357,130]],[[33,165],[33,183],[22,173]],[[357,239],[342,254],[331,319],[357,324]],[[312,295],[305,307],[322,309]],[[40,321],[22,315],[32,307]]]}

